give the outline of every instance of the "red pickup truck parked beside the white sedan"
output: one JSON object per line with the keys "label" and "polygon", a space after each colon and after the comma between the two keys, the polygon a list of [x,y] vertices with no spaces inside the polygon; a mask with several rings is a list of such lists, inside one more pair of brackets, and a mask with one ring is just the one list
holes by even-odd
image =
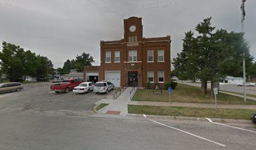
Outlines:
{"label": "red pickup truck parked beside the white sedan", "polygon": [[68,93],[70,90],[73,90],[78,86],[82,81],[77,81],[77,79],[63,80],[61,83],[51,85],[51,90],[55,93]]}

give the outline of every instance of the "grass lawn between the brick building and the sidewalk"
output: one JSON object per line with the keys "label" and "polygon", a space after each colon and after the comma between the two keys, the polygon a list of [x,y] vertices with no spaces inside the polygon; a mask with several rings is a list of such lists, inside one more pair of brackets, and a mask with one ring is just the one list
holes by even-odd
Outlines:
{"label": "grass lawn between the brick building and the sidewalk", "polygon": [[[138,89],[132,101],[169,101],[169,94],[167,90],[163,90],[163,95],[153,95],[152,89]],[[210,93],[210,91],[208,91]],[[215,103],[214,96],[211,98],[210,94],[201,94],[200,88],[195,86],[189,86],[186,84],[178,84],[176,89],[171,94],[172,102],[180,103]],[[247,99],[247,102],[243,102],[243,98],[237,96],[231,96],[228,94],[218,93],[218,104],[256,104],[256,101]]]}

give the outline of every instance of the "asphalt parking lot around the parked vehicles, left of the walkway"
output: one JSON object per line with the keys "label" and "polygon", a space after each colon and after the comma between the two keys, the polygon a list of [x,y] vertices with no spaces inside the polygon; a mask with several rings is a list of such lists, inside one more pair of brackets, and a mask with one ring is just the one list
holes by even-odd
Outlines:
{"label": "asphalt parking lot around the parked vehicles, left of the walkway", "polygon": [[55,93],[50,91],[53,83],[24,84],[19,92],[0,94],[0,109],[39,111],[92,111],[94,103],[104,99],[109,94]]}

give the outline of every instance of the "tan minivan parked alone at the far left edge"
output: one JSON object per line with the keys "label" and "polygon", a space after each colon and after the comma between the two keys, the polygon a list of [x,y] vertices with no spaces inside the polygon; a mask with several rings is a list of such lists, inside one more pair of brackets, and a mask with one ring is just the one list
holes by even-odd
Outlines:
{"label": "tan minivan parked alone at the far left edge", "polygon": [[8,93],[12,91],[21,91],[23,84],[21,83],[2,83],[0,84],[0,93]]}

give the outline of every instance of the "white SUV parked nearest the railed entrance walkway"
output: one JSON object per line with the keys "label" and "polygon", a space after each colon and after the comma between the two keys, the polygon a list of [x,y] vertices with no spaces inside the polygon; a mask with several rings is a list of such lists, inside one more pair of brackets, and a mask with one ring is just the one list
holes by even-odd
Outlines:
{"label": "white SUV parked nearest the railed entrance walkway", "polygon": [[114,89],[114,84],[110,81],[100,81],[95,83],[93,92],[94,93],[109,93],[109,90]]}

